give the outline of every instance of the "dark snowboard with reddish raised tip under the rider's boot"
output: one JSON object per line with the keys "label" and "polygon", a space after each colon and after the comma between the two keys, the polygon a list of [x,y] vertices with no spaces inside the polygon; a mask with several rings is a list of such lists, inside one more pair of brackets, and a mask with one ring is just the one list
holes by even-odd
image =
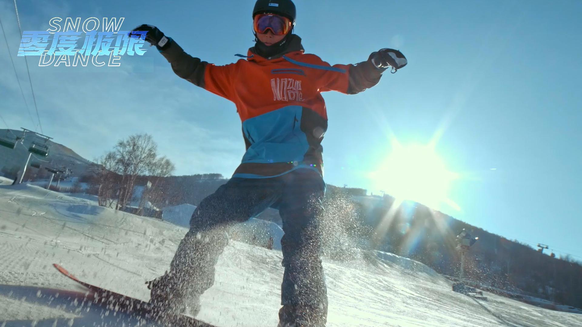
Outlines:
{"label": "dark snowboard with reddish raised tip under the rider's boot", "polygon": [[137,298],[125,296],[120,293],[112,292],[111,290],[104,289],[99,286],[91,285],[90,283],[83,282],[82,280],[76,278],[72,273],[67,271],[59,264],[52,264],[56,270],[61,272],[63,275],[74,280],[80,285],[88,289],[86,294],[87,300],[93,301],[94,305],[99,305],[101,307],[106,307],[108,310],[114,312],[122,312],[123,314],[130,315],[133,318],[137,318],[142,322],[154,322],[163,326],[175,326],[175,327],[217,327],[206,322],[200,321],[196,318],[188,317],[186,315],[175,314],[175,315],[164,315],[163,321],[157,321],[159,311],[156,310],[155,306],[151,305],[149,302],[139,300]]}

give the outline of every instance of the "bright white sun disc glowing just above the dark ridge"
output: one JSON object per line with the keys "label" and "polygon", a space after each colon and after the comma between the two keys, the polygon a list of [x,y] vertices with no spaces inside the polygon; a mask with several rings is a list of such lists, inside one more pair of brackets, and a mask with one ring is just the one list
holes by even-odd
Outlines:
{"label": "bright white sun disc glowing just above the dark ridge", "polygon": [[459,175],[446,168],[434,147],[392,142],[391,152],[370,177],[379,189],[400,201],[412,200],[434,209],[446,203],[459,209],[449,199],[450,184]]}

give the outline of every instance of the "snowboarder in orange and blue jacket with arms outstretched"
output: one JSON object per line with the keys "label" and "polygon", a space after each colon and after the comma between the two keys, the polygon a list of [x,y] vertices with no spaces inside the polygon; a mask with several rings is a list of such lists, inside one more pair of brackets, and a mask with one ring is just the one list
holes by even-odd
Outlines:
{"label": "snowboarder in orange and blue jacket with arms outstretched", "polygon": [[[325,326],[327,289],[320,260],[325,193],[321,141],[327,112],[321,92],[356,94],[375,86],[382,73],[407,61],[395,49],[373,52],[357,65],[329,65],[305,54],[293,34],[291,0],[258,0],[253,9],[255,46],[236,63],[216,66],[186,54],[157,27],[136,31],[158,48],[173,71],[233,101],[242,120],[246,153],[228,183],[194,211],[170,271],[148,282],[151,303],[196,315],[200,295],[214,283],[214,266],[228,243],[228,226],[271,207],[283,222],[279,326]],[[225,24],[228,19],[216,19]]]}

